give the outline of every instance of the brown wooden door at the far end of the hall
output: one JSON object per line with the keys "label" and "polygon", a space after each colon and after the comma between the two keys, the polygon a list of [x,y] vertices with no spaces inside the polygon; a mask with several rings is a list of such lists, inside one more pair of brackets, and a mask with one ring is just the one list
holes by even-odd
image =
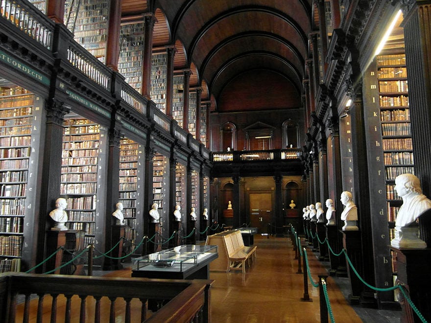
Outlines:
{"label": "brown wooden door at the far end of the hall", "polygon": [[271,193],[250,194],[250,227],[258,228],[258,233],[266,233],[271,214]]}

